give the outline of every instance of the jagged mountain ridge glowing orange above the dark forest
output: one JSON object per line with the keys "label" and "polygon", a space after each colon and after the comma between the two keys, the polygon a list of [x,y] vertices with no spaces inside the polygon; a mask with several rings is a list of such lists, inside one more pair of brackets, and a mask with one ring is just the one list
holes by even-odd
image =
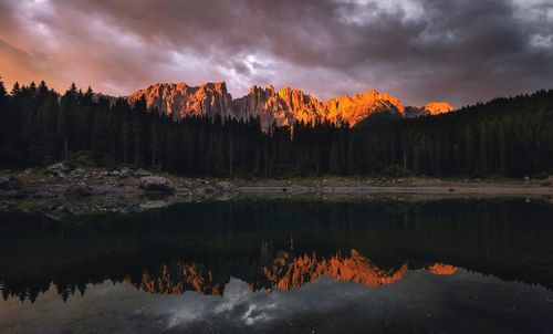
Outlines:
{"label": "jagged mountain ridge glowing orange above the dark forest", "polygon": [[136,91],[127,96],[127,100],[133,103],[142,96],[150,109],[177,118],[189,115],[210,117],[221,115],[248,119],[259,116],[263,128],[273,123],[278,126],[292,125],[296,121],[305,123],[345,121],[349,126],[354,126],[380,112],[397,117],[418,117],[453,111],[453,107],[446,102],[428,103],[420,108],[406,107],[399,98],[377,91],[321,102],[301,90],[291,87],[275,90],[272,85],[264,88],[254,85],[248,95],[233,100],[225,82],[199,86],[189,86],[186,83],[158,83]]}

